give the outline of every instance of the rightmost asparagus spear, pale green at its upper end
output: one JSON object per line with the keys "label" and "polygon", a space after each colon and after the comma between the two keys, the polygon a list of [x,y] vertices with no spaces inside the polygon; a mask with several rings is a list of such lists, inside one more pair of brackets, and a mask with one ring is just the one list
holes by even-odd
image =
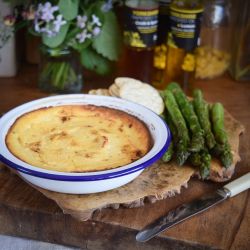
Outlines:
{"label": "rightmost asparagus spear, pale green at its upper end", "polygon": [[215,103],[211,108],[213,132],[216,140],[214,151],[219,155],[220,160],[226,168],[233,162],[230,144],[224,127],[224,108],[221,103]]}

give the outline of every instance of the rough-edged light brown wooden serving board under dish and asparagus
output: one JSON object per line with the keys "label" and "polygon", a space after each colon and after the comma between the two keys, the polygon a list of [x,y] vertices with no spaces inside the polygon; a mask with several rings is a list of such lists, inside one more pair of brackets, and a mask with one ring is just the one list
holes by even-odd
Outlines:
{"label": "rough-edged light brown wooden serving board under dish and asparagus", "polygon": [[[216,182],[231,179],[235,166],[240,160],[239,135],[244,128],[227,111],[225,112],[225,127],[229,135],[233,164],[230,168],[225,169],[219,160],[212,159],[210,179]],[[158,161],[144,170],[134,181],[107,192],[72,195],[34,188],[54,200],[64,213],[71,214],[80,220],[88,220],[92,218],[96,210],[102,208],[140,207],[145,202],[152,203],[179,194],[181,187],[187,187],[188,181],[193,175],[199,176],[198,170],[189,165],[180,167],[174,161],[170,163]]]}

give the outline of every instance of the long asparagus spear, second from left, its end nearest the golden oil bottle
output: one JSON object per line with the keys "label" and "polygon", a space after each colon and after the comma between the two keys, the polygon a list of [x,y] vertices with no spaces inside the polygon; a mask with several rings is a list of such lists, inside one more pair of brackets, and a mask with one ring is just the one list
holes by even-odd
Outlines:
{"label": "long asparagus spear, second from left, its end nearest the golden oil bottle", "polygon": [[172,83],[168,86],[168,88],[171,89],[172,93],[174,94],[181,113],[185,117],[190,128],[192,136],[189,150],[191,152],[199,152],[204,148],[204,133],[194,112],[193,106],[188,101],[185,93],[181,90],[181,88],[178,88],[176,84]]}

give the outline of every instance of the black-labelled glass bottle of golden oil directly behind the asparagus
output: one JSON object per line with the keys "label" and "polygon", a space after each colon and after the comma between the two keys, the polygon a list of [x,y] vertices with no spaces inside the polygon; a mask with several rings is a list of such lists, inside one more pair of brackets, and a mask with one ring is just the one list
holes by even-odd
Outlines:
{"label": "black-labelled glass bottle of golden oil directly behind the asparagus", "polygon": [[174,0],[170,4],[166,66],[160,89],[176,81],[187,91],[193,82],[194,50],[198,44],[202,12],[201,1]]}

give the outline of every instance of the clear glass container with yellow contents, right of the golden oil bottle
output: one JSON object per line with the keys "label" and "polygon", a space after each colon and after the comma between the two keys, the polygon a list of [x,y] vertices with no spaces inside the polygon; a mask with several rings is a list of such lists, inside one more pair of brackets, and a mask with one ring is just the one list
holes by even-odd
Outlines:
{"label": "clear glass container with yellow contents, right of the golden oil bottle", "polygon": [[231,1],[206,0],[201,27],[201,42],[196,49],[195,77],[212,79],[229,67],[231,46]]}

